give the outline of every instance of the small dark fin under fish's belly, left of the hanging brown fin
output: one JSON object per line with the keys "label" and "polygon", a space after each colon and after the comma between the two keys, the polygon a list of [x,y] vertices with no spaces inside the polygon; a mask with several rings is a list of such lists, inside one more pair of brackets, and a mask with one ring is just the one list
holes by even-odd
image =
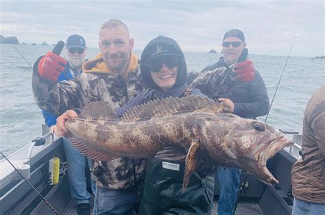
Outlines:
{"label": "small dark fin under fish's belly, left of the hanging brown fin", "polygon": [[184,162],[186,157],[186,151],[180,147],[165,147],[158,151],[155,155],[160,160],[166,160],[170,162]]}

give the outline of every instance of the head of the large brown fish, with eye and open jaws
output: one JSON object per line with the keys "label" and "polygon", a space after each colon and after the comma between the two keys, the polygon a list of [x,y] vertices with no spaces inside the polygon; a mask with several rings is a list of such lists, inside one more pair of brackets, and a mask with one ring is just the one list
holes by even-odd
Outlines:
{"label": "head of the large brown fish, with eye and open jaws", "polygon": [[278,183],[267,169],[266,162],[278,151],[293,144],[284,134],[266,123],[234,114],[216,114],[215,121],[208,124],[215,134],[209,148],[224,157],[224,166],[247,170],[267,184]]}

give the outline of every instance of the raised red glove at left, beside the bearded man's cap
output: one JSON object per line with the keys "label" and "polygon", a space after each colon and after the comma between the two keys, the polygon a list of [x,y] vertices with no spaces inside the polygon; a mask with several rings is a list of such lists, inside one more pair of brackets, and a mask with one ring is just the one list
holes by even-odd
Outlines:
{"label": "raised red glove at left, beside the bearded man's cap", "polygon": [[53,52],[48,52],[38,63],[38,73],[40,76],[58,81],[58,77],[64,71],[66,60]]}

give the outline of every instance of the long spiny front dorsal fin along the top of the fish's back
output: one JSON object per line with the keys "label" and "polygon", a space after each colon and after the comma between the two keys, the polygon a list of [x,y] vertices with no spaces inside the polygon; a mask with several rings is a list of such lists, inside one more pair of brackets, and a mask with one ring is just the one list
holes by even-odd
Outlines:
{"label": "long spiny front dorsal fin along the top of the fish's back", "polygon": [[189,96],[182,98],[157,99],[143,105],[138,105],[123,114],[122,121],[138,121],[153,116],[165,116],[181,112],[202,112],[230,113],[230,108],[225,103],[210,101],[200,96]]}

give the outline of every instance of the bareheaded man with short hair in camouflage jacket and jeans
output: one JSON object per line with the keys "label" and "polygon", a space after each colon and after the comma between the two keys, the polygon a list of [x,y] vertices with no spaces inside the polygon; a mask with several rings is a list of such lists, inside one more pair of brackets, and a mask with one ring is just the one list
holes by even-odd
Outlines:
{"label": "bareheaded man with short hair in camouflage jacket and jeans", "polygon": [[[145,90],[138,58],[132,53],[133,45],[128,27],[111,19],[99,29],[101,53],[84,63],[82,75],[58,83],[57,77],[65,61],[52,52],[40,57],[34,64],[32,77],[36,103],[56,115],[93,101],[106,101],[112,109],[121,107]],[[111,162],[93,162],[97,184],[94,214],[132,211],[144,169],[145,160],[141,159],[121,157]],[[101,203],[103,197],[111,199],[110,205]]]}

